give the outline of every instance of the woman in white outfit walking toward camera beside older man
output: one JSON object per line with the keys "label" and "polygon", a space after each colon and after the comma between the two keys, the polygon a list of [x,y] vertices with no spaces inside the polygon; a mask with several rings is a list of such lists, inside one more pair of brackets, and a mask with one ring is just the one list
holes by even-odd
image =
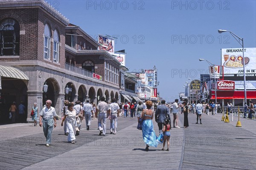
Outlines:
{"label": "woman in white outfit walking toward camera beside older man", "polygon": [[74,121],[76,119],[76,110],[73,109],[74,107],[74,102],[71,102],[67,105],[67,110],[65,112],[65,116],[61,122],[61,126],[63,126],[63,122],[65,121],[65,119],[67,118],[67,128],[69,130],[69,134],[67,136],[67,141],[69,141],[71,144],[75,143],[75,133],[74,133]]}

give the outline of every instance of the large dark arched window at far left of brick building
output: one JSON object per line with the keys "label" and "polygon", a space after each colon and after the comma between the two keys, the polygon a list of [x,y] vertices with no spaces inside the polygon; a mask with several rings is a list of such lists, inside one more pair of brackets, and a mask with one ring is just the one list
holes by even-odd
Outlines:
{"label": "large dark arched window at far left of brick building", "polygon": [[20,55],[20,26],[11,18],[0,22],[0,55]]}

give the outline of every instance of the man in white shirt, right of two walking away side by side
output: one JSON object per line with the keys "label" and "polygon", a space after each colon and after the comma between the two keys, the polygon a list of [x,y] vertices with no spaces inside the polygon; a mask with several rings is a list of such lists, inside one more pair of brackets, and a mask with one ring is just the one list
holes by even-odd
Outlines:
{"label": "man in white shirt, right of two walking away side by side", "polygon": [[108,111],[110,117],[110,134],[115,135],[117,130],[117,117],[119,116],[119,105],[116,103],[116,98],[111,99]]}

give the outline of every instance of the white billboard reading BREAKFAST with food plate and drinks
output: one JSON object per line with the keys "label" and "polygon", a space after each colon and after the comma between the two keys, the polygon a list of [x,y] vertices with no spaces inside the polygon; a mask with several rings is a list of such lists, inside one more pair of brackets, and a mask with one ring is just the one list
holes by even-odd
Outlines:
{"label": "white billboard reading BREAKFAST with food plate and drinks", "polygon": [[224,66],[224,79],[226,80],[242,81],[244,69],[246,80],[255,80],[256,48],[244,48],[244,56],[242,48],[221,49],[221,65]]}

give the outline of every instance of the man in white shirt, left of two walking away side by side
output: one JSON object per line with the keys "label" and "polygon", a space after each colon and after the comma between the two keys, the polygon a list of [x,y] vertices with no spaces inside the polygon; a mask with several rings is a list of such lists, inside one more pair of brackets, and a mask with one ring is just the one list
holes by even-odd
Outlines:
{"label": "man in white shirt, left of two walking away side by side", "polygon": [[109,110],[108,104],[105,102],[105,97],[101,97],[101,102],[97,105],[96,112],[99,112],[98,115],[98,127],[99,127],[99,135],[105,136],[106,134],[106,119],[107,119],[107,111]]}

